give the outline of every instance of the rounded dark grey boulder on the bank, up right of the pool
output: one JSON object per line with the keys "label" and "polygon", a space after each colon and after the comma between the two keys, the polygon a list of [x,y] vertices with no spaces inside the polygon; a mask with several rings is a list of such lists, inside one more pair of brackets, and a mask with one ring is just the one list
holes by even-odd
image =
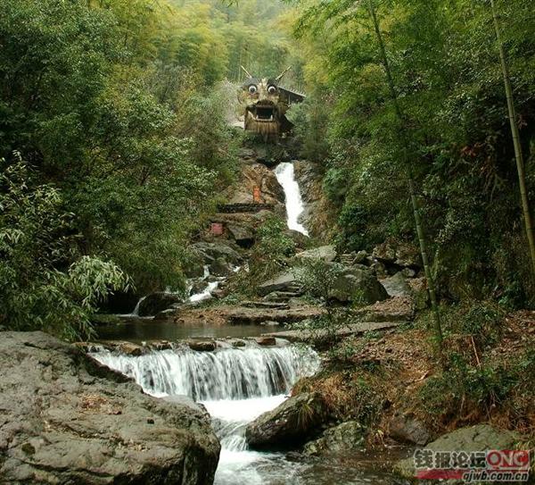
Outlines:
{"label": "rounded dark grey boulder on the bank, up right of the pool", "polygon": [[366,266],[343,267],[333,282],[329,297],[342,303],[358,301],[371,305],[388,298],[388,293]]}

